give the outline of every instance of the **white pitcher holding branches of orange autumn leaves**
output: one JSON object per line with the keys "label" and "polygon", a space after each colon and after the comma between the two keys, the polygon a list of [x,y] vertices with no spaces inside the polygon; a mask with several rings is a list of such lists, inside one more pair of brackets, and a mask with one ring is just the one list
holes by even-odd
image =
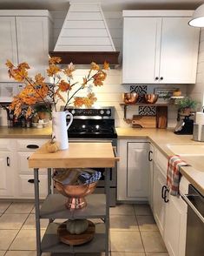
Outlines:
{"label": "white pitcher holding branches of orange autumn leaves", "polygon": [[[22,112],[23,106],[27,105],[28,109],[25,118],[28,118],[34,112],[34,106],[37,103],[44,104],[52,113],[52,136],[56,138],[59,149],[68,149],[68,135],[67,130],[73,120],[66,106],[70,103],[77,107],[90,107],[97,98],[92,88],[94,86],[103,85],[107,77],[106,71],[109,70],[109,64],[104,63],[102,67],[92,62],[87,76],[82,78],[81,82],[74,81],[74,72],[76,67],[70,63],[65,68],[61,68],[61,57],[50,57],[49,67],[46,70],[47,75],[50,77],[50,83],[45,82],[45,77],[41,74],[36,74],[35,77],[29,76],[30,66],[27,63],[21,63],[15,66],[7,60],[9,76],[14,78],[16,82],[25,84],[20,93],[16,95],[10,104],[10,110],[14,111],[16,117]],[[86,97],[76,97],[76,94],[87,89],[88,94]],[[63,102],[63,111],[57,110],[58,102]],[[69,115],[69,125],[66,123],[66,118]]]}

